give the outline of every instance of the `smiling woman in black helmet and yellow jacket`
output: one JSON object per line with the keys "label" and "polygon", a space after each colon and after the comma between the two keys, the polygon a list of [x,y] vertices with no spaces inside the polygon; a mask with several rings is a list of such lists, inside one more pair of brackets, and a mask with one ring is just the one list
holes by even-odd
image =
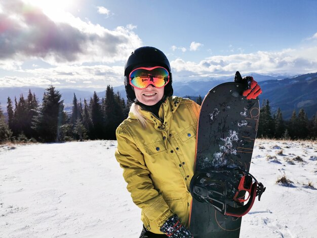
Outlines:
{"label": "smiling woman in black helmet and yellow jacket", "polygon": [[[253,81],[251,87],[256,86]],[[192,237],[189,183],[200,106],[172,97],[170,63],[154,47],[132,52],[125,65],[125,87],[134,103],[116,130],[115,156],[133,202],[142,210],[140,238]],[[259,87],[251,94],[248,97],[260,94]]]}

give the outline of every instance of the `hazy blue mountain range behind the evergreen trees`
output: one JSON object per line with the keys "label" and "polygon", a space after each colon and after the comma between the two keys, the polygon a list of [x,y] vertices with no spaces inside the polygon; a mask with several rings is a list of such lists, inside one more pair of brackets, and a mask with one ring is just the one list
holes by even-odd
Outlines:
{"label": "hazy blue mountain range behind the evergreen trees", "polygon": [[[288,120],[293,110],[298,111],[303,108],[307,113],[308,118],[311,118],[317,111],[317,72],[301,74],[292,77],[285,75],[268,76],[256,73],[251,73],[254,79],[259,83],[263,93],[259,96],[260,104],[263,100],[269,100],[271,112],[274,113],[279,107],[282,110],[284,119]],[[181,97],[190,97],[195,100],[199,95],[204,97],[210,89],[218,84],[232,82],[232,78],[209,78],[208,80],[194,80],[190,82],[173,82],[174,95]],[[106,86],[105,86],[106,87]],[[23,94],[27,97],[29,89],[35,93],[37,99],[41,103],[44,88],[36,87],[12,87],[0,88],[0,103],[4,111],[6,111],[8,96],[14,101],[14,97],[19,99]],[[89,102],[93,93],[90,91],[82,91],[76,89],[58,89],[62,94],[62,100],[65,103],[65,109],[71,110],[73,95],[77,99],[84,98]],[[124,86],[113,87],[113,91],[119,92],[126,99]],[[105,97],[105,91],[97,92],[97,95]]]}

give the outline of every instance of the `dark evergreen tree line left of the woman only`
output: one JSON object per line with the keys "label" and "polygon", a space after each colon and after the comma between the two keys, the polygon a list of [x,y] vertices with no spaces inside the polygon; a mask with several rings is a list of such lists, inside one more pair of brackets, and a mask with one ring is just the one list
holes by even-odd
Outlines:
{"label": "dark evergreen tree line left of the woman only", "polygon": [[74,94],[72,111],[68,114],[61,97],[53,86],[46,89],[42,104],[30,90],[27,98],[20,95],[13,102],[8,97],[8,123],[0,109],[0,142],[115,140],[115,130],[127,118],[130,107],[110,86],[105,97],[100,99],[94,92],[89,101],[84,99],[84,104]]}

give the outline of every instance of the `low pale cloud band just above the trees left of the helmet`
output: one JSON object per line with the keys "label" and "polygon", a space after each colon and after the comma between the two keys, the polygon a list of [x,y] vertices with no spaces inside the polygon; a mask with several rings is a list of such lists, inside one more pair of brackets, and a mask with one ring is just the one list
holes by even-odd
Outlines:
{"label": "low pale cloud band just above the trees left of the helmet", "polygon": [[76,66],[60,65],[51,68],[34,68],[15,70],[15,75],[0,77],[0,87],[37,86],[47,87],[51,84],[60,88],[104,89],[107,85],[123,84],[123,66]]}

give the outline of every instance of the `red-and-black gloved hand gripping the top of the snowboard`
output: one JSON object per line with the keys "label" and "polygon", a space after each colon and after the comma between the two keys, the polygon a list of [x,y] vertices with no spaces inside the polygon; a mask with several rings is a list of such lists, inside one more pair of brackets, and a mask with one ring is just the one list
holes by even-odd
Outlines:
{"label": "red-and-black gloved hand gripping the top of the snowboard", "polygon": [[247,99],[256,99],[262,93],[262,90],[258,83],[253,79],[252,76],[246,76],[242,78],[239,71],[236,71],[234,76],[234,82],[242,83],[247,85],[247,90],[243,92],[243,96],[247,97]]}

